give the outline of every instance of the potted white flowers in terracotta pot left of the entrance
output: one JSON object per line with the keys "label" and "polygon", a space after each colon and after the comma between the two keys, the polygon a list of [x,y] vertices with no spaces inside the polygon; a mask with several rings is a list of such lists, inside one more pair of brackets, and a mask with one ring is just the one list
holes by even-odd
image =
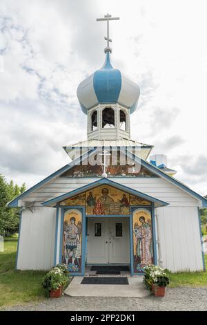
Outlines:
{"label": "potted white flowers in terracotta pot left of the entrance", "polygon": [[55,266],[43,278],[42,286],[46,290],[46,296],[59,298],[63,293],[63,288],[68,284],[68,270],[64,264]]}

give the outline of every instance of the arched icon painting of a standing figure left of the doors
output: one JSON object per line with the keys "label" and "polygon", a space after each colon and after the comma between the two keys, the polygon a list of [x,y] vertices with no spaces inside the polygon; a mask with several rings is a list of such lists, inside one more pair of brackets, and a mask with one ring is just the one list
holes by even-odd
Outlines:
{"label": "arched icon painting of a standing figure left of the doors", "polygon": [[66,210],[63,218],[61,263],[68,266],[69,272],[81,272],[82,213],[77,209]]}

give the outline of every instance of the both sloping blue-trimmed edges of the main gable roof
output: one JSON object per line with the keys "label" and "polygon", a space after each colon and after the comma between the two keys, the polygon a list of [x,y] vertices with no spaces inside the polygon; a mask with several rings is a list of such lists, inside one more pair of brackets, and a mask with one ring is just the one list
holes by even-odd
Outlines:
{"label": "both sloping blue-trimmed edges of the main gable roof", "polygon": [[[120,148],[120,150],[123,150],[123,149]],[[69,164],[63,166],[61,169],[58,169],[57,171],[55,171],[55,173],[53,173],[50,176],[44,178],[43,180],[41,180],[41,182],[37,183],[37,185],[32,186],[26,192],[23,192],[23,194],[17,196],[17,198],[14,198],[12,201],[10,201],[8,203],[8,207],[18,207],[19,206],[18,205],[19,200],[21,200],[22,198],[24,198],[25,196],[27,196],[28,194],[30,194],[34,190],[39,189],[39,187],[45,185],[50,180],[56,178],[57,176],[60,176],[65,171],[68,171],[70,168],[72,168],[75,165],[79,164],[82,160],[87,158],[87,155],[90,156],[92,154],[95,154],[95,151],[96,151],[96,149],[89,150],[88,152],[83,154],[81,157],[73,160],[71,163],[69,163]],[[146,160],[142,160],[141,158],[135,156],[129,150],[126,151],[126,154],[129,156],[129,158],[132,158],[135,161],[137,161],[138,163],[141,163],[141,165],[146,167],[146,169],[150,170],[152,173],[160,176],[161,178],[165,178],[168,182],[172,183],[176,187],[179,187],[180,189],[183,189],[184,192],[190,194],[190,196],[193,196],[193,198],[196,198],[196,199],[200,200],[202,202],[203,207],[207,207],[207,199],[204,198],[204,196],[201,196],[201,195],[197,194],[196,192],[193,191],[193,189],[190,189],[189,187],[187,187],[183,183],[179,182],[179,180],[176,180],[175,178],[173,178],[173,177],[169,176],[168,174],[164,173],[164,171],[161,171],[161,169],[157,168],[155,165],[152,165],[152,164],[148,163]]]}

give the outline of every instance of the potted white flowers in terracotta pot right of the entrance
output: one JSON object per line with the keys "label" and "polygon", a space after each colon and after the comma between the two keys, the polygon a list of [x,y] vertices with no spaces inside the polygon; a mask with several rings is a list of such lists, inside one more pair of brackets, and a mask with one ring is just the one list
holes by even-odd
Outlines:
{"label": "potted white flowers in terracotta pot right of the entrance", "polygon": [[159,266],[150,265],[146,266],[144,271],[144,284],[146,287],[152,290],[155,297],[164,297],[165,288],[169,284],[169,279],[164,269]]}

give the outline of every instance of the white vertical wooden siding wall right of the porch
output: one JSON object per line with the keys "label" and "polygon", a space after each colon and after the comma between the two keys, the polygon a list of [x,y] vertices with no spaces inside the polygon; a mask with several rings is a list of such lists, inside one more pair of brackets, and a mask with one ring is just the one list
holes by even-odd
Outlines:
{"label": "white vertical wooden siding wall right of the porch", "polygon": [[159,207],[156,214],[161,266],[172,272],[203,270],[197,207]]}

